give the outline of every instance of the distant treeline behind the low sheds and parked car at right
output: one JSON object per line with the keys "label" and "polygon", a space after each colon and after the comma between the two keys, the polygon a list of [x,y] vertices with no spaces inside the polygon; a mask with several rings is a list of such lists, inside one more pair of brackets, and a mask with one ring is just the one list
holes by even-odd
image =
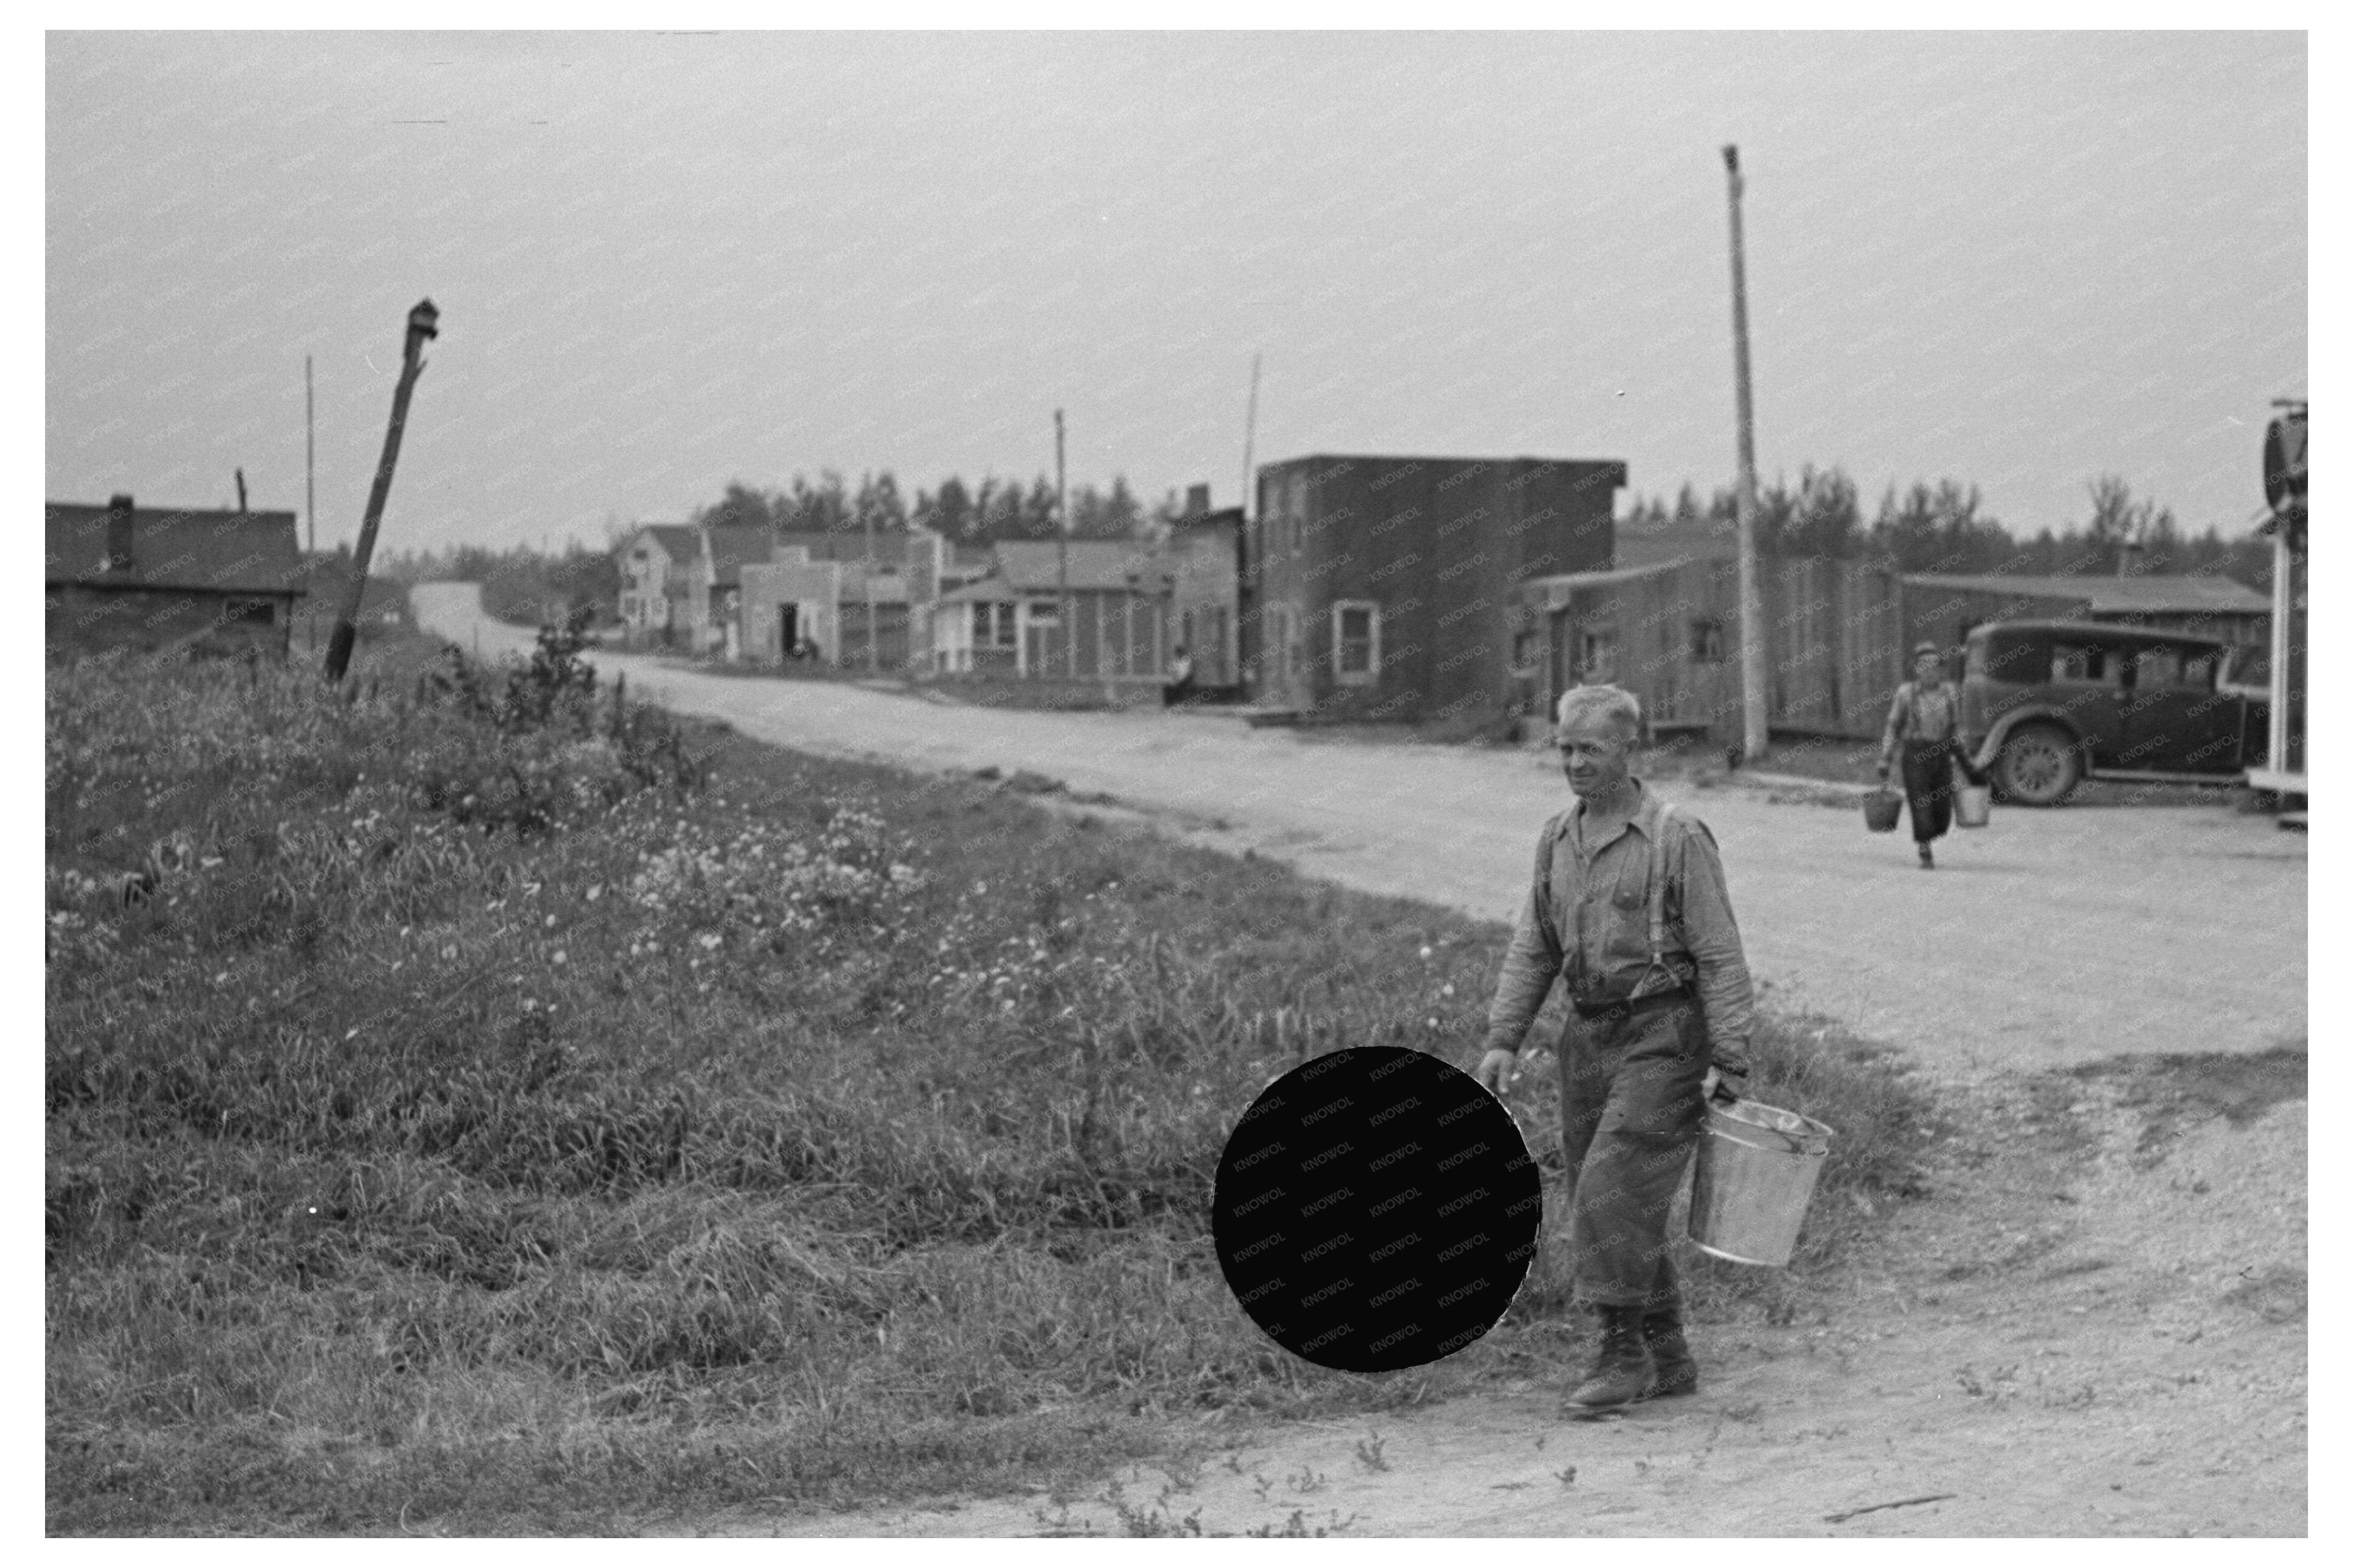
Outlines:
{"label": "distant treeline behind the low sheds and parked car at right", "polygon": [[[1777,477],[1758,487],[1758,550],[1772,555],[1821,555],[1878,559],[1897,571],[2009,574],[2009,576],[2108,576],[2127,545],[2141,548],[2141,571],[2207,571],[2271,588],[2271,543],[2259,536],[2224,538],[2221,529],[2188,534],[2172,508],[2139,498],[2132,487],[2101,475],[2087,487],[2087,512],[2064,534],[2042,529],[2019,538],[1986,510],[1974,484],[1939,480],[1887,487],[1878,515],[1866,524],[1854,480],[1840,468]],[[1635,498],[1624,531],[1720,527],[1734,520],[1732,489],[1706,501],[1685,484],[1668,505],[1661,496]]]}

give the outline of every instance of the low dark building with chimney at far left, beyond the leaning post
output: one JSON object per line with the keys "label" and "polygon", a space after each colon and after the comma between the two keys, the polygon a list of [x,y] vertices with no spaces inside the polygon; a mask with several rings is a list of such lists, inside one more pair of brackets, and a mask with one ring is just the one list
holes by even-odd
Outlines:
{"label": "low dark building with chimney at far left, beyond the leaning post", "polygon": [[282,656],[304,597],[294,512],[49,501],[47,646]]}

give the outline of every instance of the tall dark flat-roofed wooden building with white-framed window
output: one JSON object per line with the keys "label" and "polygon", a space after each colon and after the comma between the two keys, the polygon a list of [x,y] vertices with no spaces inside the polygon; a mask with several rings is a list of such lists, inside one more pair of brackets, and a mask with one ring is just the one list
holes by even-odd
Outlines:
{"label": "tall dark flat-roofed wooden building with white-framed window", "polygon": [[1245,679],[1332,717],[1508,712],[1522,583],[1612,552],[1614,461],[1304,456],[1257,475]]}

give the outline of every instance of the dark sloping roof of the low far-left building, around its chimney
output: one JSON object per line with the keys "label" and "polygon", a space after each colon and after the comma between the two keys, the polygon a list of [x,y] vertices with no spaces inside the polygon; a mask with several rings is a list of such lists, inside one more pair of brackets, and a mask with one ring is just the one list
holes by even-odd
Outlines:
{"label": "dark sloping roof of the low far-left building, around its chimney", "polygon": [[132,567],[106,571],[106,508],[45,505],[49,583],[304,592],[294,512],[132,508]]}

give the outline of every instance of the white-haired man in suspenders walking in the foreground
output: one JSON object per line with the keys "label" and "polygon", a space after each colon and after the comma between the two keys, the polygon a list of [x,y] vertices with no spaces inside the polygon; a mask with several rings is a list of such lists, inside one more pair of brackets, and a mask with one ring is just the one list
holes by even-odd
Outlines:
{"label": "white-haired man in suspenders walking in the foreground", "polygon": [[1593,1371],[1565,1401],[1579,1415],[1699,1387],[1666,1213],[1706,1100],[1732,1098],[1748,1074],[1748,964],[1715,837],[1631,776],[1640,729],[1631,691],[1560,698],[1555,745],[1577,799],[1537,837],[1475,1072],[1501,1098],[1560,976],[1569,1267],[1602,1328]]}

